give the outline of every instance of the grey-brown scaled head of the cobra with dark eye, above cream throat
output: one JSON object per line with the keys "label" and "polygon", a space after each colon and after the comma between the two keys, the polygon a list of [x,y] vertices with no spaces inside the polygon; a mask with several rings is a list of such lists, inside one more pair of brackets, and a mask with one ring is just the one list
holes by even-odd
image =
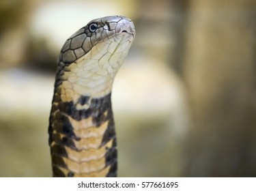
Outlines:
{"label": "grey-brown scaled head of the cobra with dark eye, above cream throat", "polygon": [[[61,49],[59,61],[70,64],[85,56],[100,42],[132,42],[135,36],[134,24],[125,16],[106,16],[91,20],[85,27],[76,31]],[[101,49],[101,48],[100,48]],[[100,51],[105,51],[102,48]]]}

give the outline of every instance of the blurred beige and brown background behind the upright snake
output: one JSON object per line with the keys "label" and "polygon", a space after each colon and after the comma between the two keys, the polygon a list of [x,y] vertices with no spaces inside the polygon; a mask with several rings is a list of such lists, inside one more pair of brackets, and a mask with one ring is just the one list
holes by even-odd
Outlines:
{"label": "blurred beige and brown background behind the upright snake", "polygon": [[256,176],[256,1],[0,1],[0,177],[51,177],[57,56],[89,20],[137,36],[115,78],[119,177]]}

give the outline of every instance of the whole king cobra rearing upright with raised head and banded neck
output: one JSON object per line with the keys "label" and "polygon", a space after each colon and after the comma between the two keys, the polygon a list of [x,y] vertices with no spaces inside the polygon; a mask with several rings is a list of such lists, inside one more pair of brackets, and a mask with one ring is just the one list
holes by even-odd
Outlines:
{"label": "whole king cobra rearing upright with raised head and banded neck", "polygon": [[53,177],[116,177],[115,74],[135,37],[132,20],[91,20],[61,48],[49,119]]}

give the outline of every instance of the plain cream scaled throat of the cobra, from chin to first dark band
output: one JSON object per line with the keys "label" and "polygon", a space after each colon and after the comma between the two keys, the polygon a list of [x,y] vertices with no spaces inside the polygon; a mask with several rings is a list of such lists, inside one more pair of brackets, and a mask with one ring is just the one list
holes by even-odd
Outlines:
{"label": "plain cream scaled throat of the cobra, from chin to first dark band", "polygon": [[[126,37],[126,36],[124,36]],[[76,102],[80,95],[101,98],[111,92],[113,79],[124,62],[131,42],[126,38],[113,38],[96,44],[80,59],[68,66],[61,80],[61,100]],[[84,108],[83,106],[81,107]]]}

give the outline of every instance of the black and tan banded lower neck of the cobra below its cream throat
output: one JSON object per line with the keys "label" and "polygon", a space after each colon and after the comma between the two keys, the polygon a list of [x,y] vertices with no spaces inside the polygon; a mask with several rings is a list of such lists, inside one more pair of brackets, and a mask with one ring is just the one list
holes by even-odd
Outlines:
{"label": "black and tan banded lower neck of the cobra below its cream throat", "polygon": [[[115,177],[117,149],[111,93],[61,100],[55,87],[49,144],[54,177]],[[62,96],[63,97],[63,96]]]}

